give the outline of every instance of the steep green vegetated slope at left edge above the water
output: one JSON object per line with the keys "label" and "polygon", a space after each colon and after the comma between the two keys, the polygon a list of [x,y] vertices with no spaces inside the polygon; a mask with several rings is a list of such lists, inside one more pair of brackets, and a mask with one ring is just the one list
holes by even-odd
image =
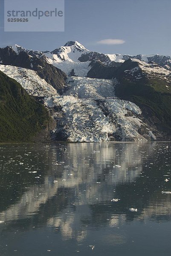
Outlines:
{"label": "steep green vegetated slope at left edge above the water", "polygon": [[46,108],[0,71],[0,142],[30,141],[49,120]]}

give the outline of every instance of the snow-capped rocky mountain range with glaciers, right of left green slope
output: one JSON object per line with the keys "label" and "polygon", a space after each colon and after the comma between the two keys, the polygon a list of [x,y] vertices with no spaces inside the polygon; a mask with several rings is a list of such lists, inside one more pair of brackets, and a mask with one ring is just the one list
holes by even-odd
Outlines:
{"label": "snow-capped rocky mountain range with glaciers, right of left green slope", "polygon": [[102,54],[69,41],[46,52],[0,48],[0,64],[49,110],[52,140],[171,139],[170,56]]}

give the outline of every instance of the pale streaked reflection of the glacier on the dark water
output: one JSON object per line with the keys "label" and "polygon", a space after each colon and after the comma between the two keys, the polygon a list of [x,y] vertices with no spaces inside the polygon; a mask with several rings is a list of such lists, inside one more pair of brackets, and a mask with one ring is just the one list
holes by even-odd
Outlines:
{"label": "pale streaked reflection of the glacier on the dark water", "polygon": [[117,183],[131,182],[142,171],[141,155],[136,162],[132,161],[135,147],[134,143],[81,143],[67,144],[66,153],[53,149],[50,175],[45,177],[43,185],[31,186],[17,204],[0,213],[0,219],[7,221],[36,214],[41,204],[55,196],[60,187],[74,188],[77,196],[68,197],[76,204],[92,204],[97,197],[98,201],[110,200],[103,189],[109,189],[110,194]]}

